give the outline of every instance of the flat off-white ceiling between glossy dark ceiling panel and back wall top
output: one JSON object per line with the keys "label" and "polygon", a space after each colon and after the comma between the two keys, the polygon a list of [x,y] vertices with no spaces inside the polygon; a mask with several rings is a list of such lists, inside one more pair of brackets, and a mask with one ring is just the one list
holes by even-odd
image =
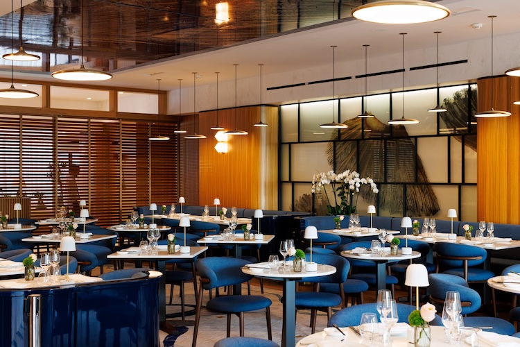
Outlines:
{"label": "flat off-white ceiling between glossy dark ceiling panel and back wall top", "polygon": [[[442,31],[440,45],[457,44],[469,40],[491,37],[491,20],[494,19],[494,35],[520,33],[519,0],[442,0],[451,15],[438,22],[410,25],[381,25],[357,20],[338,21],[283,33],[276,37],[254,42],[245,42],[227,49],[214,49],[189,56],[179,56],[163,62],[115,71],[114,78],[103,85],[137,87],[154,90],[157,78],[161,78],[162,90],[178,87],[178,78],[191,81],[194,71],[201,76],[197,85],[215,83],[215,71],[220,71],[219,81],[234,79],[233,64],[239,64],[239,78],[258,76],[258,64],[265,65],[263,74],[278,74],[284,71],[305,69],[331,62],[331,45],[337,45],[336,62],[361,60],[365,57],[363,44],[370,44],[369,56],[376,58],[401,52],[401,36],[406,35],[406,51],[435,47],[434,31]],[[8,3],[8,5],[10,5]],[[1,9],[1,8],[0,8]],[[472,24],[482,23],[483,28],[474,29]],[[489,48],[491,42],[489,40]],[[519,59],[520,60],[520,59]],[[432,61],[425,64],[433,63]],[[520,65],[520,64],[519,64]],[[383,71],[372,67],[372,71]],[[370,71],[369,71],[370,72]],[[51,79],[42,74],[17,74],[29,78]],[[291,81],[287,81],[288,84]],[[89,83],[85,83],[89,84]],[[269,87],[268,85],[266,87]]]}

